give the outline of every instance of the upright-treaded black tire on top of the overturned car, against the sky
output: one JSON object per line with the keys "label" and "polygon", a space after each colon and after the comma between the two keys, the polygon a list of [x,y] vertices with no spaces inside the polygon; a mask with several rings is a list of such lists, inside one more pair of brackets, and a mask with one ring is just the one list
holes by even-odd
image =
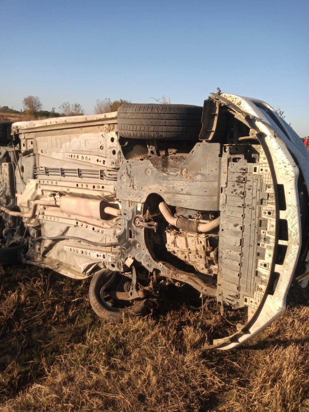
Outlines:
{"label": "upright-treaded black tire on top of the overturned car, against the sky", "polygon": [[118,109],[118,133],[132,139],[194,139],[202,112],[200,106],[126,103]]}

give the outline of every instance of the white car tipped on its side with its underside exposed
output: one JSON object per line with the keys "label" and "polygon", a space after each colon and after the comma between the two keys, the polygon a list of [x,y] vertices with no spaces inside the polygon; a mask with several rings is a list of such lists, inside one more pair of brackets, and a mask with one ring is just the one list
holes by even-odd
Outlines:
{"label": "white car tipped on its side with its underside exposed", "polygon": [[219,92],[3,130],[0,263],[92,276],[102,319],[187,284],[221,314],[247,309],[208,346],[231,349],[285,310],[296,276],[306,286],[308,152],[266,103]]}

